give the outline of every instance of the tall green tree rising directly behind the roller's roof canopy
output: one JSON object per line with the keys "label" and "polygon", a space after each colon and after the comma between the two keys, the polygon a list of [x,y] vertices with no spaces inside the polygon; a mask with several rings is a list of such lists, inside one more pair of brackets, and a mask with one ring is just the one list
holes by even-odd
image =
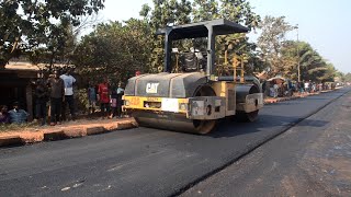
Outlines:
{"label": "tall green tree rising directly behind the roller's roof canopy", "polygon": [[[144,4],[140,15],[149,24],[152,32],[165,26],[181,25],[190,22],[199,22],[214,19],[228,19],[237,23],[247,25],[250,28],[257,27],[260,16],[257,15],[246,0],[194,0],[191,4],[189,0],[154,0],[154,7]],[[204,47],[205,40],[191,40],[184,43],[176,43],[180,48],[186,48],[189,44],[200,43]],[[235,53],[246,54],[251,58],[257,57],[257,53],[250,54],[256,45],[248,43],[248,37],[245,34],[235,34],[220,36],[217,39],[217,54],[224,55],[225,47],[230,46],[229,59]],[[154,39],[151,55],[152,71],[161,70],[163,62],[163,40],[160,37]],[[257,59],[256,59],[257,60]],[[252,59],[251,62],[254,60]],[[159,69],[155,69],[159,68]]]}

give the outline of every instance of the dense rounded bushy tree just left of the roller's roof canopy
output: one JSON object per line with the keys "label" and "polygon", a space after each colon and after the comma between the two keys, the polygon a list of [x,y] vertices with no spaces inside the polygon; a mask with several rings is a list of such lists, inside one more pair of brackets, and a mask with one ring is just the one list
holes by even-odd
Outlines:
{"label": "dense rounded bushy tree just left of the roller's roof canopy", "polygon": [[90,81],[100,82],[102,77],[126,81],[136,70],[148,70],[151,37],[144,21],[101,23],[82,37],[73,63]]}

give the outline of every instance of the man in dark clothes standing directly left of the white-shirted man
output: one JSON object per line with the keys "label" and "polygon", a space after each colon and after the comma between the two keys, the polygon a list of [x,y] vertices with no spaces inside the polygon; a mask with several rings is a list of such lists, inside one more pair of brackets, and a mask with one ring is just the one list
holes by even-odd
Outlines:
{"label": "man in dark clothes standing directly left of the white-shirted man", "polygon": [[50,126],[60,125],[59,116],[65,96],[65,84],[58,71],[54,72],[54,78],[48,79],[48,86],[50,88]]}

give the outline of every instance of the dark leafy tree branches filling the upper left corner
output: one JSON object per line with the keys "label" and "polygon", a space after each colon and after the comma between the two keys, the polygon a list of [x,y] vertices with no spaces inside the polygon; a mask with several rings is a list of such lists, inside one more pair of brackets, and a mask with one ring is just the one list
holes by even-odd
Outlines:
{"label": "dark leafy tree branches filling the upper left corner", "polygon": [[[0,2],[0,66],[78,26],[81,16],[97,13],[104,0],[4,0]],[[57,39],[58,40],[58,39]],[[58,40],[59,42],[59,40]]]}

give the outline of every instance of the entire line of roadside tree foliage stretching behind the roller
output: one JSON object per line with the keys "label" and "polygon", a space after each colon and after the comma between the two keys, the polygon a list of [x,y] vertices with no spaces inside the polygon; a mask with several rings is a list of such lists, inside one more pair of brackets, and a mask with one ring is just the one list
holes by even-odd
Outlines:
{"label": "entire line of roadside tree foliage stretching behind the roller", "polygon": [[[261,30],[258,43],[246,34],[217,36],[216,63],[227,51],[228,60],[246,57],[246,72],[269,71],[297,80],[332,81],[333,65],[306,42],[294,42],[286,34],[295,28],[284,16],[261,16],[248,0],[152,0],[140,8],[141,19],[95,24],[92,33],[77,42],[82,18],[103,9],[104,0],[5,0],[0,2],[0,66],[25,55],[32,62],[73,63],[81,74],[94,79],[110,76],[126,80],[136,70],[158,72],[163,68],[163,38],[155,32],[165,26],[214,19],[227,19]],[[174,47],[206,48],[206,38],[174,42]],[[343,78],[346,78],[344,76]]]}

